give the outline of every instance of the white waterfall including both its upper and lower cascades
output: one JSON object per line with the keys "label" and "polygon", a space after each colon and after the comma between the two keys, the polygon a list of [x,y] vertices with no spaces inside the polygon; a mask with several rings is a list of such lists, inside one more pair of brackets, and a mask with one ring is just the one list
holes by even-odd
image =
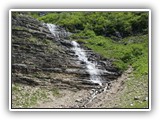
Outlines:
{"label": "white waterfall including both its upper and lower cascades", "polygon": [[[52,33],[52,35],[58,40],[60,40],[61,38],[68,37],[71,34],[69,32],[66,32],[64,29],[59,29],[54,24],[47,24],[47,27]],[[72,41],[72,45],[72,50],[75,51],[75,54],[78,56],[78,59],[86,64],[86,71],[90,75],[90,80],[93,83],[97,83],[100,86],[102,86],[100,70],[96,68],[96,64],[88,61],[85,50],[82,49],[76,41]]]}

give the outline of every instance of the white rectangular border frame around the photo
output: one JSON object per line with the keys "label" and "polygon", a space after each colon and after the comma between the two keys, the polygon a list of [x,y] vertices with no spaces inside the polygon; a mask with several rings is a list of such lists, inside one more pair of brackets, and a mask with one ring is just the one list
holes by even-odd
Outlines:
{"label": "white rectangular border frame around the photo", "polygon": [[[48,108],[48,109],[38,109],[38,108],[26,108],[26,109],[13,109],[11,108],[11,12],[12,11],[147,11],[149,12],[149,108],[148,109],[58,109],[58,108]],[[150,111],[151,110],[151,10],[150,9],[10,9],[9,10],[9,110],[10,111]]]}

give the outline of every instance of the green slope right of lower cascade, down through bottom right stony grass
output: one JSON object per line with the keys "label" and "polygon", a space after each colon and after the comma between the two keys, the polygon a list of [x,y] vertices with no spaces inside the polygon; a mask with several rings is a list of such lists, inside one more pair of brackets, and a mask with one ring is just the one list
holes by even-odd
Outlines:
{"label": "green slope right of lower cascade, down through bottom right stony grass", "polygon": [[115,101],[118,107],[148,108],[148,35],[127,37],[119,42],[104,37],[79,42],[112,59],[122,71],[132,66],[132,74],[124,81],[125,90]]}

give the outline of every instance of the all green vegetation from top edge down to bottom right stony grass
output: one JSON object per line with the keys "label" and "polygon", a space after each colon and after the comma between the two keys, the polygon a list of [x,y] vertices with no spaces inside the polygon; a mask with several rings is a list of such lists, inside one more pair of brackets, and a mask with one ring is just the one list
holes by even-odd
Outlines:
{"label": "all green vegetation from top edge down to bottom right stony grass", "polygon": [[[125,81],[120,108],[147,108],[148,12],[49,12],[31,14],[45,23],[57,24],[74,33],[71,39],[111,59],[115,67],[133,73]],[[139,96],[135,100],[135,96]]]}

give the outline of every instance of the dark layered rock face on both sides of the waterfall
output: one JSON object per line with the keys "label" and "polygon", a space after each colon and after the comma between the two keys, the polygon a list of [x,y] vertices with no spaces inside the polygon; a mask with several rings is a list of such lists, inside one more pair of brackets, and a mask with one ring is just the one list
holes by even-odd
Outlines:
{"label": "dark layered rock face on both sides of the waterfall", "polygon": [[[13,14],[12,83],[57,86],[71,90],[97,87],[90,82],[85,63],[78,61],[71,41],[66,39],[57,39],[47,25],[34,18]],[[110,60],[85,47],[84,50],[88,60],[95,61],[97,67],[104,71],[101,74],[104,83],[120,75]]]}

